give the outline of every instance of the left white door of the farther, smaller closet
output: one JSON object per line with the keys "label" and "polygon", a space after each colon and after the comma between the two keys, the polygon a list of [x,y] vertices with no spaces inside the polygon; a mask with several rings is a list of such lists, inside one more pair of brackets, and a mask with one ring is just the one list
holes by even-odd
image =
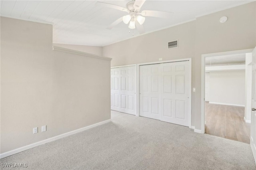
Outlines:
{"label": "left white door of the farther, smaller closet", "polygon": [[110,97],[111,97],[111,110],[119,111],[119,68],[111,69],[111,90],[110,90]]}

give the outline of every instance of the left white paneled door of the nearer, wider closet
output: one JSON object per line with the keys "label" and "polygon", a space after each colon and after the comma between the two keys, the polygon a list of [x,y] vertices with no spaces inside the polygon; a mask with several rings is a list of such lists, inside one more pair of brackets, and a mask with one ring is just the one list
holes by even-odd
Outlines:
{"label": "left white paneled door of the nearer, wider closet", "polygon": [[140,66],[140,116],[160,120],[160,64]]}

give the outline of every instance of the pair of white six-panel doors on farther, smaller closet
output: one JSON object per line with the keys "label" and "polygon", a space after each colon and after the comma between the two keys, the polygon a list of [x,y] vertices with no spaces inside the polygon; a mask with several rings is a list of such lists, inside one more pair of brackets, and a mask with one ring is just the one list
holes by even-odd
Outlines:
{"label": "pair of white six-panel doors on farther, smaller closet", "polygon": [[136,115],[136,66],[111,69],[111,110]]}

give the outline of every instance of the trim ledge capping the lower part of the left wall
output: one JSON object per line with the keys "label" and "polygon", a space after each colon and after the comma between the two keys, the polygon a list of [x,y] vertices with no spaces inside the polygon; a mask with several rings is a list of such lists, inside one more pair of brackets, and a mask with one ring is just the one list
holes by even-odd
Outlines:
{"label": "trim ledge capping the lower part of the left wall", "polygon": [[90,54],[90,53],[85,53],[85,52],[82,52],[82,51],[76,51],[76,50],[73,50],[73,49],[57,47],[57,46],[54,46],[54,45],[52,46],[52,49],[54,51],[61,51],[61,52],[65,52],[65,53],[71,53],[71,54],[76,54],[76,55],[83,55],[83,56],[86,56],[86,57],[92,57],[92,58],[97,58],[97,59],[104,59],[104,60],[108,60],[108,61],[112,60],[112,58],[109,58],[109,57],[102,57],[102,56],[98,56],[98,55],[94,55],[94,54]]}

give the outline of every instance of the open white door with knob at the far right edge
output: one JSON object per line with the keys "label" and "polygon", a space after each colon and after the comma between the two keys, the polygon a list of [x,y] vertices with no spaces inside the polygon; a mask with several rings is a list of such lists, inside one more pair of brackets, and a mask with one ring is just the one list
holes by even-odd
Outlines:
{"label": "open white door with knob at the far right edge", "polygon": [[[252,108],[256,109],[256,47],[252,51]],[[250,145],[256,162],[256,111],[251,112]]]}

